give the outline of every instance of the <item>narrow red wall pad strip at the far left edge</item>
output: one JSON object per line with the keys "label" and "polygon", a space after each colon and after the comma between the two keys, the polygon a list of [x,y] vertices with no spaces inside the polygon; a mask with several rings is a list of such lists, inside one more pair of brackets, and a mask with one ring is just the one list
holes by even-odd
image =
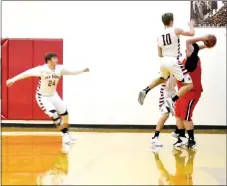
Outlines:
{"label": "narrow red wall pad strip at the far left edge", "polygon": [[1,94],[1,99],[2,99],[2,118],[7,118],[8,117],[8,107],[7,107],[7,96],[8,96],[8,89],[6,87],[6,80],[8,79],[8,40],[7,39],[2,39],[1,40],[1,46],[2,46],[2,80],[1,80],[1,89],[2,89],[2,94]]}

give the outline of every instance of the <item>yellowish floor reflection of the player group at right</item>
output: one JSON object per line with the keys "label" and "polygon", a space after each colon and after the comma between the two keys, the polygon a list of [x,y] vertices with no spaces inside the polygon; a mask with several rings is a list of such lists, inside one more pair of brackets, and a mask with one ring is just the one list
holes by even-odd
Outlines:
{"label": "yellowish floor reflection of the player group at right", "polygon": [[[159,185],[193,185],[193,165],[196,152],[190,149],[173,149],[176,173],[170,174],[159,154],[154,153],[156,166],[160,172]],[[187,159],[187,161],[186,161]]]}

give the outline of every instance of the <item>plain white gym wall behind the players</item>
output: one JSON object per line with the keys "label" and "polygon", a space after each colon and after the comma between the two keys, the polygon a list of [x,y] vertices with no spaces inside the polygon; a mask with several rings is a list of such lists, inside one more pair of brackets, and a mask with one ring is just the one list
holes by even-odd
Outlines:
{"label": "plain white gym wall behind the players", "polygon": [[[90,68],[90,73],[64,77],[71,124],[156,124],[159,88],[149,92],[143,106],[137,102],[138,93],[158,76],[156,41],[163,29],[161,15],[173,12],[176,27],[186,29],[190,2],[2,4],[3,37],[63,38],[64,65]],[[215,34],[217,45],[200,53],[204,93],[193,118],[196,125],[225,126],[226,29],[195,31],[196,36]],[[182,53],[186,39],[181,38]],[[171,117],[167,124],[175,124],[175,119]]]}

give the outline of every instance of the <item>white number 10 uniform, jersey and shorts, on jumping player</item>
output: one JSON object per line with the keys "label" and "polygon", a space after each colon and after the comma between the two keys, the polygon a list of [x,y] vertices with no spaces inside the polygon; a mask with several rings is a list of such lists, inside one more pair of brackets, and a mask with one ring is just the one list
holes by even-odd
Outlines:
{"label": "white number 10 uniform, jersey and shorts, on jumping player", "polygon": [[172,74],[178,81],[191,83],[187,70],[179,62],[180,36],[176,35],[173,27],[165,28],[159,35],[158,46],[162,49],[163,55],[160,61],[161,77],[167,79]]}

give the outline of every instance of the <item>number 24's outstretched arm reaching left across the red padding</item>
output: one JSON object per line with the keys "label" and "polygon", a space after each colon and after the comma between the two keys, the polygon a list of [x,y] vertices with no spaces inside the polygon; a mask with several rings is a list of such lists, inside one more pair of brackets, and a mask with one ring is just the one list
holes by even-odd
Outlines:
{"label": "number 24's outstretched arm reaching left across the red padding", "polygon": [[9,87],[11,86],[13,83],[15,83],[16,81],[19,81],[21,79],[25,79],[28,77],[40,77],[41,76],[41,72],[40,72],[40,67],[35,67],[29,70],[26,70],[25,72],[22,72],[21,74],[18,74],[17,76],[8,79],[6,81],[6,85]]}

